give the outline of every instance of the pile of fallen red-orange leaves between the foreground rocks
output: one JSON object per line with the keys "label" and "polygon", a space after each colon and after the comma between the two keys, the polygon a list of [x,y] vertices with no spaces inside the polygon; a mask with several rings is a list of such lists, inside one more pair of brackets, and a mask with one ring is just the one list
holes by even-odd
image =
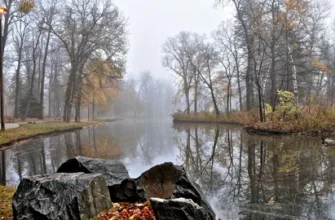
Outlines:
{"label": "pile of fallen red-orange leaves between the foreground rocks", "polygon": [[113,208],[96,217],[94,220],[155,220],[150,202],[113,203]]}

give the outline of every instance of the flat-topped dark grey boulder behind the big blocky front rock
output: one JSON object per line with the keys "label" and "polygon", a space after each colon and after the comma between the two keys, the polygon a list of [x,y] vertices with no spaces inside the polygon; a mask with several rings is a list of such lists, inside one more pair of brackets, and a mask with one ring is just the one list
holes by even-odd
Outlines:
{"label": "flat-topped dark grey boulder behind the big blocky front rock", "polygon": [[119,161],[93,159],[78,156],[63,163],[57,173],[101,173],[108,186],[120,184],[124,179],[130,178],[128,170]]}

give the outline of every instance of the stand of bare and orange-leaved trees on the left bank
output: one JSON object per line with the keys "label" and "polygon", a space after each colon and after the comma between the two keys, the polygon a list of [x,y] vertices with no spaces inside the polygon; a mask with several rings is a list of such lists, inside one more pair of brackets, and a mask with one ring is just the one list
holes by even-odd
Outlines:
{"label": "stand of bare and orange-leaved trees on the left bank", "polygon": [[[109,0],[5,0],[6,115],[76,122],[112,103],[125,72],[127,20]],[[85,107],[85,108],[84,108]],[[13,112],[13,113],[12,113]],[[89,116],[90,117],[90,116]]]}

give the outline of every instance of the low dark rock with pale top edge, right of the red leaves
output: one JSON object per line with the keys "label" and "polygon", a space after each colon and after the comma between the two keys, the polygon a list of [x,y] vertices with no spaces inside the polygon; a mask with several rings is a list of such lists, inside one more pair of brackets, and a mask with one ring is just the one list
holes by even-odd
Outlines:
{"label": "low dark rock with pale top edge, right of the red leaves", "polygon": [[212,220],[211,213],[191,199],[150,199],[157,220]]}

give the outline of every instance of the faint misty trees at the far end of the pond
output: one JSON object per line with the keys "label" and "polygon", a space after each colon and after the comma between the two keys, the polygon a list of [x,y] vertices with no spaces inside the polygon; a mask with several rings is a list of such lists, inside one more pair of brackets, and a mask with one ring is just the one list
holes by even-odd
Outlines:
{"label": "faint misty trees at the far end of the pond", "polygon": [[122,80],[111,111],[117,117],[169,118],[174,94],[169,81],[157,79],[149,71],[141,72],[138,77]]}

